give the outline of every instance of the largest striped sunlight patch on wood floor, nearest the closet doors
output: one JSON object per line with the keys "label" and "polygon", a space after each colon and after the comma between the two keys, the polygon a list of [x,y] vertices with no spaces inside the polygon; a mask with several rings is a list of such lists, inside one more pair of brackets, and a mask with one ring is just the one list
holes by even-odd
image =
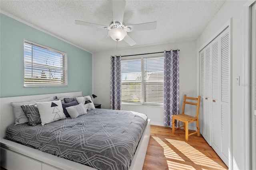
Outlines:
{"label": "largest striped sunlight patch on wood floor, nearest the closet doors", "polygon": [[173,139],[166,139],[166,141],[168,141],[176,149],[182,152],[182,154],[184,154],[187,158],[189,158],[192,162],[194,162],[194,164],[197,164],[203,167],[215,168],[219,170],[224,169],[218,163],[214,162],[214,160],[208,158],[206,155],[202,154],[202,152],[194,149],[194,147],[192,147],[185,141],[177,141]]}

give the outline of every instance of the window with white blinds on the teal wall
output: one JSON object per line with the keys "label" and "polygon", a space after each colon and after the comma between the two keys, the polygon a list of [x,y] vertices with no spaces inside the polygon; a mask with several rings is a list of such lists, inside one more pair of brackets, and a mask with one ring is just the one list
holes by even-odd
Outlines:
{"label": "window with white blinds on the teal wall", "polygon": [[24,86],[68,86],[67,54],[24,40]]}

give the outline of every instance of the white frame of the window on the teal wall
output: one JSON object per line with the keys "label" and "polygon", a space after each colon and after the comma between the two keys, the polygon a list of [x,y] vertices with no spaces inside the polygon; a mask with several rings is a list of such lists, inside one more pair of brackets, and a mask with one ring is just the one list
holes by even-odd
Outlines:
{"label": "white frame of the window on the teal wall", "polygon": [[[34,46],[37,46],[39,48],[42,48],[42,49],[45,49],[45,50],[48,50],[48,51],[52,51],[52,52],[55,52],[55,53],[59,53],[62,55],[62,82],[60,82],[59,84],[49,84],[48,82],[45,82],[45,83],[33,83],[33,82],[25,82],[25,71],[26,71],[26,61],[25,61],[25,43],[26,44],[30,44]],[[63,87],[63,86],[68,86],[68,55],[67,53],[65,52],[62,52],[62,51],[59,51],[59,50],[56,50],[56,49],[53,49],[53,48],[50,48],[50,47],[47,47],[47,46],[44,46],[44,45],[41,45],[41,44],[38,44],[38,43],[35,43],[35,42],[32,42],[32,41],[29,41],[29,40],[26,40],[24,39],[24,42],[23,42],[23,49],[24,49],[24,54],[23,54],[23,57],[24,57],[24,74],[23,74],[23,82],[24,82],[24,87]],[[32,54],[33,55],[33,54]],[[31,58],[32,59],[32,58]],[[31,61],[32,63],[32,61]],[[43,64],[42,64],[43,66]],[[45,68],[48,68],[48,67],[45,67]],[[32,72],[32,68],[31,68],[31,72]]]}

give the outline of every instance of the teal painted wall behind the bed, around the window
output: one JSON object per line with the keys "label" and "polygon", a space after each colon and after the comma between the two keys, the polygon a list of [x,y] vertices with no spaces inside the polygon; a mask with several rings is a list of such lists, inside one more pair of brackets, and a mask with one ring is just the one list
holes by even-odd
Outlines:
{"label": "teal painted wall behind the bed, around the window", "polygon": [[[24,87],[24,39],[68,54],[68,87]],[[74,91],[92,94],[92,54],[0,14],[0,97]]]}

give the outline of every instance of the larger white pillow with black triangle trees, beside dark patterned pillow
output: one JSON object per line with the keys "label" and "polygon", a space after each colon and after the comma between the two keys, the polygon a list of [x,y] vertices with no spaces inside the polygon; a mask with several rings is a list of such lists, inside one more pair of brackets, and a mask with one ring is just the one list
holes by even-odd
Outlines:
{"label": "larger white pillow with black triangle trees, beside dark patterned pillow", "polygon": [[65,119],[60,100],[51,102],[36,102],[42,125],[51,123],[60,119]]}

